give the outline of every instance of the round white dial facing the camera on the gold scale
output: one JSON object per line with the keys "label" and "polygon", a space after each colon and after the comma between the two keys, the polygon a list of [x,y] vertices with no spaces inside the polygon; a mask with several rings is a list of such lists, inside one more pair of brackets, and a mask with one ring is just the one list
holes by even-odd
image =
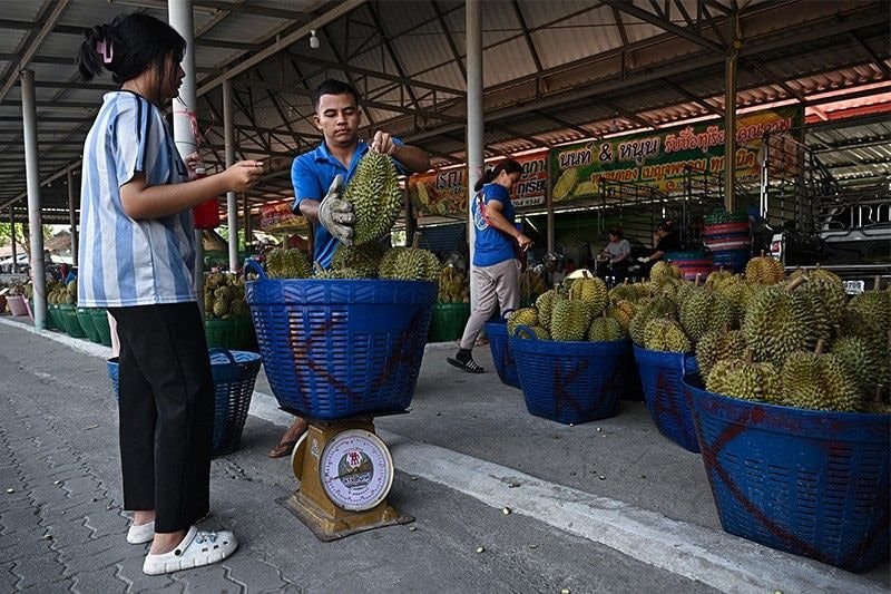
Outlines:
{"label": "round white dial facing the camera on the gold scale", "polygon": [[393,458],[376,435],[347,429],[331,438],[319,465],[322,488],[342,509],[364,512],[386,498],[393,485]]}

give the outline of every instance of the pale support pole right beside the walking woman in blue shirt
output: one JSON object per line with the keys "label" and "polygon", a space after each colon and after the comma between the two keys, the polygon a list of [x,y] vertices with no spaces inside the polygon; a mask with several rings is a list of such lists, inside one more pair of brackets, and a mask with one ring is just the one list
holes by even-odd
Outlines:
{"label": "pale support pole right beside the walking woman in blue shirt", "polygon": [[[473,267],[473,186],[482,177],[483,166],[483,121],[482,121],[482,10],[480,0],[467,0],[464,6],[467,20],[467,192],[469,242],[468,270]],[[477,302],[477,286],[470,275],[470,306]]]}

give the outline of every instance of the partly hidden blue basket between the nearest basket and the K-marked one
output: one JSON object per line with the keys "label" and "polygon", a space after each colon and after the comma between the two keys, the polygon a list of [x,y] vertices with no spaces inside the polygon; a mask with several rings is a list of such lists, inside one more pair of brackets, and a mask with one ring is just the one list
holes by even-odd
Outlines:
{"label": "partly hidden blue basket between the nearest basket and the K-marked one", "polygon": [[634,358],[644,384],[644,400],[659,432],[687,451],[698,452],[693,415],[684,399],[684,373],[698,371],[696,358],[634,347]]}

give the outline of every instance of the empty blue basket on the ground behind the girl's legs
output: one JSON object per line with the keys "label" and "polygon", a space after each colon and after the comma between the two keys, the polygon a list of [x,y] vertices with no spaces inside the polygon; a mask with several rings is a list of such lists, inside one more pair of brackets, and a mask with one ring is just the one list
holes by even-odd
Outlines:
{"label": "empty blue basket on the ground behind the girl's legs", "polygon": [[[210,349],[208,354],[214,377],[214,432],[210,454],[222,456],[238,449],[261,359],[257,353],[225,349]],[[119,398],[118,358],[108,359],[106,366],[115,397]]]}

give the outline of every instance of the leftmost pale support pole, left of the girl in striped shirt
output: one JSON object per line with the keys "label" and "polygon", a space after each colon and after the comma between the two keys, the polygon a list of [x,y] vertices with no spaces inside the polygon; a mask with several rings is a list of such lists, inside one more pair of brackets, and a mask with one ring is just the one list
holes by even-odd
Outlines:
{"label": "leftmost pale support pole, left of the girl in striped shirt", "polygon": [[25,129],[25,172],[28,187],[28,231],[31,240],[31,280],[35,283],[35,328],[47,328],[47,274],[43,270],[43,222],[40,213],[40,167],[37,162],[37,100],[35,74],[21,71],[21,117]]}

